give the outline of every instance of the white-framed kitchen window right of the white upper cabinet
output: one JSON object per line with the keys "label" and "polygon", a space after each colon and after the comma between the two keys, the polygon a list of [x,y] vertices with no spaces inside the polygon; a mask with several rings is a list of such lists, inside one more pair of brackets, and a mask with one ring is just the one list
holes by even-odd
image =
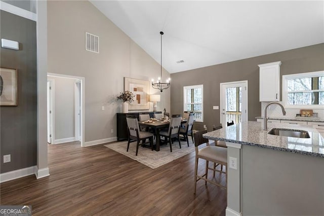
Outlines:
{"label": "white-framed kitchen window right of the white upper cabinet", "polygon": [[282,76],[282,100],[290,108],[323,108],[324,71]]}

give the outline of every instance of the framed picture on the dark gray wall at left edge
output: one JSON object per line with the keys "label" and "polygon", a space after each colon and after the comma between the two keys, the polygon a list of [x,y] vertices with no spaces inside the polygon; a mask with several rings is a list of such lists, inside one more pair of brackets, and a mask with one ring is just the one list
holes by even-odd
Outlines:
{"label": "framed picture on the dark gray wall at left edge", "polygon": [[17,69],[0,68],[0,105],[16,106],[17,99]]}

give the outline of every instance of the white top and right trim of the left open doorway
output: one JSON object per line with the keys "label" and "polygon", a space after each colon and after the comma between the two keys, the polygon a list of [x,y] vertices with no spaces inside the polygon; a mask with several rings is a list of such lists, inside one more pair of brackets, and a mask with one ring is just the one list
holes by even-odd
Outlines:
{"label": "white top and right trim of the left open doorway", "polygon": [[[80,134],[80,142],[81,147],[85,147],[85,78],[84,77],[76,77],[76,76],[70,76],[70,75],[63,75],[63,74],[53,74],[53,73],[47,73],[47,76],[51,77],[61,77],[61,78],[69,78],[74,80],[80,80],[80,92],[81,92],[81,134]],[[54,118],[54,116],[53,116]]]}

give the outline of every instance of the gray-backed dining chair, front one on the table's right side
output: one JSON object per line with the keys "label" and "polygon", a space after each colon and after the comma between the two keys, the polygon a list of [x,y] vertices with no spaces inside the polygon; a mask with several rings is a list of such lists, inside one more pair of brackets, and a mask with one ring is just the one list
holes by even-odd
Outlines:
{"label": "gray-backed dining chair, front one on the table's right side", "polygon": [[179,141],[179,147],[181,149],[181,143],[180,143],[180,125],[181,125],[181,115],[172,115],[171,122],[169,125],[168,131],[160,131],[159,135],[164,137],[165,142],[170,143],[170,152],[172,152],[172,138],[177,137]]}

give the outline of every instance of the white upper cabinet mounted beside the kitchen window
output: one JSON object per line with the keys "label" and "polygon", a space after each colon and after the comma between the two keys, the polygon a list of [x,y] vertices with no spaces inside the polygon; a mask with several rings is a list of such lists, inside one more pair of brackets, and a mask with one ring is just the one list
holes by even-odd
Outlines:
{"label": "white upper cabinet mounted beside the kitchen window", "polygon": [[258,64],[260,67],[260,101],[280,100],[281,61]]}

